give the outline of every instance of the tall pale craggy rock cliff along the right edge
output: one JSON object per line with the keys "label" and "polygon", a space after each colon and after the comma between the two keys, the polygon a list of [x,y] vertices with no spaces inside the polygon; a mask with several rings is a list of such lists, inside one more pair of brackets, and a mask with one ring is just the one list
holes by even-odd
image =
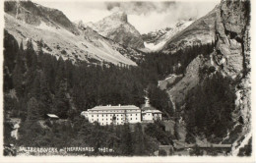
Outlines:
{"label": "tall pale craggy rock cliff along the right edge", "polygon": [[232,118],[242,119],[244,135],[251,126],[250,1],[222,1],[217,14],[213,61],[225,76],[237,81]]}

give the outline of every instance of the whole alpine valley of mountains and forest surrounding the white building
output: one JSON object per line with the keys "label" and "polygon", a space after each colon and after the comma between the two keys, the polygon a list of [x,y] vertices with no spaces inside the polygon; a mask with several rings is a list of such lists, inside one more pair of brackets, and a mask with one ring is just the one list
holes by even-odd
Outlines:
{"label": "whole alpine valley of mountains and forest surrounding the white building", "polygon": [[[32,1],[4,7],[6,155],[13,146],[57,148],[52,155],[251,155],[250,1],[222,1],[144,34],[124,11],[73,23]],[[143,109],[147,100],[161,119],[101,126],[82,115],[102,105]],[[94,150],[63,151],[72,146]]]}

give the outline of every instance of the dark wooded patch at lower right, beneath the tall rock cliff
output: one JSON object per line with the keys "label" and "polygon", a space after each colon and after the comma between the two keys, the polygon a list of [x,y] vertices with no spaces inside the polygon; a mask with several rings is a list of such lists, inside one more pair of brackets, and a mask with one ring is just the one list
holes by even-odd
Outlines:
{"label": "dark wooded patch at lower right, beneath the tall rock cliff", "polygon": [[[219,143],[234,125],[235,81],[219,72],[212,75],[209,72],[201,70],[206,79],[191,89],[185,99],[184,120],[189,143],[195,142],[194,136],[205,136],[208,141]],[[242,125],[242,119],[239,121]]]}

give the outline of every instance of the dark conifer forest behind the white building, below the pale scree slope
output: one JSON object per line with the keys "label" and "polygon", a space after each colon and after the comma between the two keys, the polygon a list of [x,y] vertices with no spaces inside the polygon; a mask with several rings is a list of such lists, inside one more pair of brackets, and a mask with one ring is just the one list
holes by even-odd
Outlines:
{"label": "dark conifer forest behind the white building, below the pale scree slope", "polygon": [[[40,46],[41,41],[38,41],[37,46]],[[140,106],[144,103],[144,90],[147,88],[150,88],[149,91],[153,94],[159,91],[162,98],[157,107],[171,114],[172,106],[167,94],[155,86],[157,81],[170,73],[181,74],[198,51],[207,54],[211,48],[207,45],[192,47],[173,55],[149,54],[142,63],[139,63],[139,67],[122,68],[88,63],[73,65],[70,61],[63,61],[61,57],[57,60],[41,50],[35,52],[30,41],[26,45],[28,48],[24,49],[24,45],[18,45],[7,31],[4,43],[5,111],[24,120],[30,114],[28,106],[31,105],[38,106],[34,116],[37,119],[46,113],[73,119],[81,111],[96,105]],[[184,60],[182,57],[187,59]],[[156,100],[158,101],[157,98],[152,99],[153,102]]]}

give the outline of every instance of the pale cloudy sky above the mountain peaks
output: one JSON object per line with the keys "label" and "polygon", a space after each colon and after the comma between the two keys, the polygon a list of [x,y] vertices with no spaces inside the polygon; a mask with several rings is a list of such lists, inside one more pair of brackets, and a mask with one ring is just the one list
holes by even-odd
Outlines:
{"label": "pale cloudy sky above the mountain peaks", "polygon": [[84,23],[101,20],[117,11],[126,12],[128,22],[140,33],[172,27],[182,20],[205,16],[220,0],[175,1],[82,1],[82,0],[32,0],[45,7],[62,11],[72,22]]}

